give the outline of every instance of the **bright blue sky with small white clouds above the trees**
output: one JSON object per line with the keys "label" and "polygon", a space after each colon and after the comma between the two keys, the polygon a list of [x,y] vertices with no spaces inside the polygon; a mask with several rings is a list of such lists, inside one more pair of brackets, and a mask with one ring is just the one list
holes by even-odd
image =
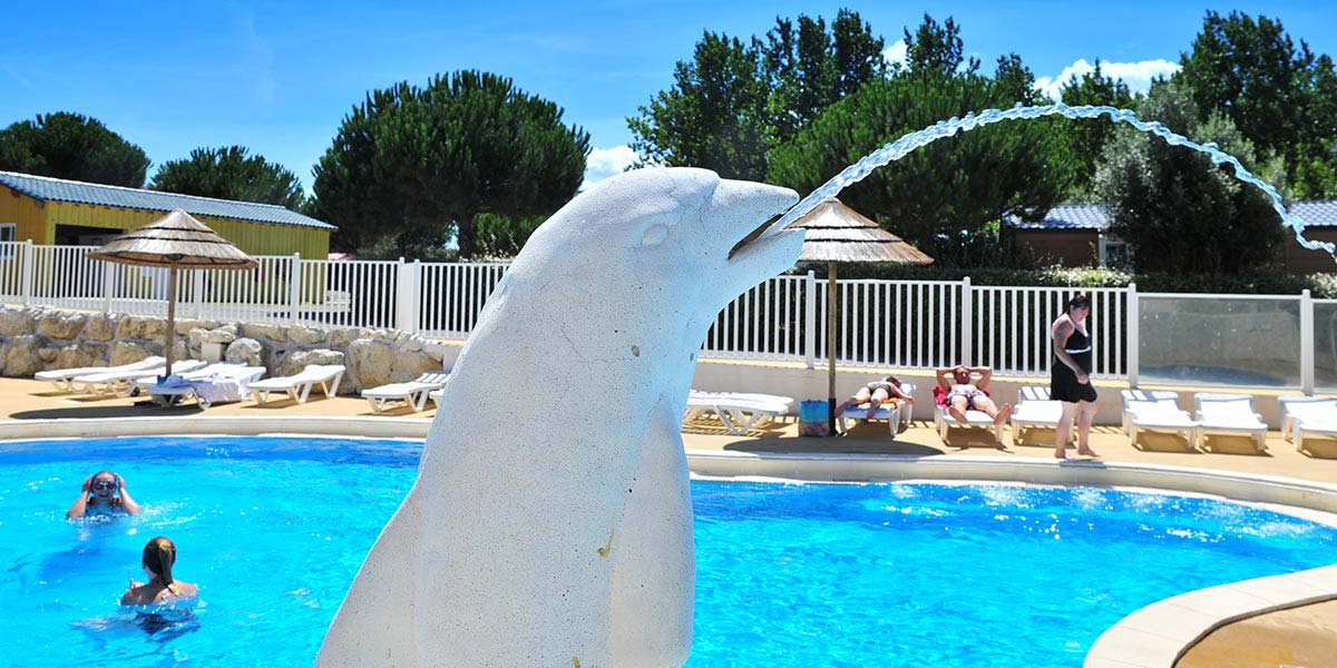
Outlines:
{"label": "bright blue sky with small white clouds above the trees", "polygon": [[309,187],[366,91],[477,68],[564,107],[592,135],[587,180],[598,180],[630,159],[626,116],[671,84],[702,31],[747,37],[775,16],[840,7],[861,13],[890,57],[925,11],[955,16],[987,68],[1015,51],[1051,84],[1099,57],[1144,87],[1175,67],[1209,8],[1278,17],[1297,41],[1337,55],[1329,1],[17,3],[0,40],[0,126],[78,111],[143,147],[150,176],[191,148],[242,144]]}

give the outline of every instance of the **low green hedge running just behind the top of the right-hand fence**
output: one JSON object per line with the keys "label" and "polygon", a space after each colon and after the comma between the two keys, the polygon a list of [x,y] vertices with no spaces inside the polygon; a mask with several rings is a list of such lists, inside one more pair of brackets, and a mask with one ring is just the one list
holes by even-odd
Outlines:
{"label": "low green hedge running just behind the top of the right-hand fence", "polygon": [[[826,265],[802,266],[826,278]],[[1316,299],[1337,299],[1337,274],[1254,273],[1242,275],[1124,274],[1108,269],[955,269],[905,267],[900,265],[840,265],[838,278],[878,278],[885,281],[960,281],[971,277],[977,286],[1039,287],[1123,287],[1138,283],[1139,293],[1227,293],[1300,294],[1309,290]]]}

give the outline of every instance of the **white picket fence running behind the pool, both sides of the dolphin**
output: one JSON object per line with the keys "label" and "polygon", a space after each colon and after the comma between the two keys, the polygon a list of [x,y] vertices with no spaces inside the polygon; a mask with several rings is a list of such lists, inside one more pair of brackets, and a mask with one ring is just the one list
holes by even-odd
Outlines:
{"label": "white picket fence running behind the pool, both sides of the dolphin", "polygon": [[[87,246],[0,243],[0,302],[162,315],[164,270],[92,261]],[[400,329],[464,338],[501,281],[500,263],[308,261],[259,257],[250,271],[182,271],[185,318]],[[1098,378],[1337,389],[1337,301],[1301,295],[1084,290]],[[1043,377],[1048,327],[1076,289],[964,281],[838,281],[837,350],[845,366],[987,365]],[[743,293],[710,329],[702,357],[825,361],[826,282],[777,277]],[[1140,362],[1146,362],[1146,366]],[[1222,366],[1223,365],[1223,366]],[[1206,371],[1203,371],[1206,369]],[[1215,375],[1213,375],[1215,374]],[[1261,378],[1261,379],[1259,379]]]}

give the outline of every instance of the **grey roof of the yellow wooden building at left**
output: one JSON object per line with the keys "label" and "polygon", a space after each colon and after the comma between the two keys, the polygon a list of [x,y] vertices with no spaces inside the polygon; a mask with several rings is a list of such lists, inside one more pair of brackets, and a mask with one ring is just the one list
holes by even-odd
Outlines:
{"label": "grey roof of the yellow wooden building at left", "polygon": [[41,202],[78,202],[80,204],[143,208],[148,211],[185,208],[187,214],[194,215],[334,230],[333,224],[305,216],[297,211],[289,211],[278,204],[255,204],[251,202],[233,202],[230,199],[176,195],[156,190],[103,186],[100,183],[52,179],[49,176],[33,176],[12,171],[0,171],[0,184]]}

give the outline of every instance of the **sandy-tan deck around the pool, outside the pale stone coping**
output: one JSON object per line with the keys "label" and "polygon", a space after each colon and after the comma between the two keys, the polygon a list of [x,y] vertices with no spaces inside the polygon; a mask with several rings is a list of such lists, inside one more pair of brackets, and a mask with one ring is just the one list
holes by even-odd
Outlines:
{"label": "sandy-tan deck around the pool, outside the pale stone coping", "polygon": [[[194,403],[174,407],[136,406],[142,398],[91,397],[56,391],[49,383],[0,378],[0,422],[76,421],[98,418],[164,418],[176,433],[193,432],[191,421],[199,418],[261,417],[261,418],[356,418],[412,421],[425,425],[435,415],[431,407],[421,413],[406,409],[376,414],[370,405],[356,397],[316,398],[305,405],[291,401],[271,401],[263,406],[245,401],[201,409]],[[431,406],[431,403],[429,403]],[[197,422],[201,425],[203,422]],[[417,429],[422,429],[418,426]],[[275,429],[281,432],[282,429]],[[766,454],[854,454],[854,456],[909,456],[932,461],[963,462],[972,456],[1016,458],[1017,462],[1052,461],[1052,432],[1028,430],[1023,445],[1012,445],[1011,429],[1004,430],[1004,445],[996,446],[989,433],[973,429],[953,429],[951,444],[944,444],[932,424],[913,422],[894,440],[888,437],[885,422],[861,425],[837,438],[805,438],[797,436],[797,422],[782,418],[750,430],[745,436],[731,436],[711,418],[694,421],[683,428],[687,450]],[[1337,484],[1337,440],[1316,441],[1309,452],[1298,453],[1293,444],[1278,432],[1267,434],[1267,452],[1253,452],[1249,438],[1213,438],[1207,450],[1193,450],[1182,438],[1146,434],[1138,446],[1128,444],[1118,425],[1096,426],[1091,446],[1108,464],[1150,464],[1213,469],[1257,476],[1277,476],[1309,482]],[[1070,450],[1070,453],[1074,453]],[[1075,454],[1071,454],[1075,457]],[[1305,605],[1288,611],[1269,612],[1221,627],[1190,648],[1179,660],[1179,667],[1234,667],[1234,665],[1322,665],[1318,656],[1337,652],[1337,601]],[[1322,643],[1326,644],[1321,644]],[[1318,653],[1316,653],[1318,652]],[[1234,661],[1234,663],[1229,663]],[[1115,664],[1110,664],[1114,667]],[[1122,664],[1132,665],[1132,664]],[[1150,664],[1148,664],[1150,665]],[[1167,665],[1169,668],[1169,665]]]}

